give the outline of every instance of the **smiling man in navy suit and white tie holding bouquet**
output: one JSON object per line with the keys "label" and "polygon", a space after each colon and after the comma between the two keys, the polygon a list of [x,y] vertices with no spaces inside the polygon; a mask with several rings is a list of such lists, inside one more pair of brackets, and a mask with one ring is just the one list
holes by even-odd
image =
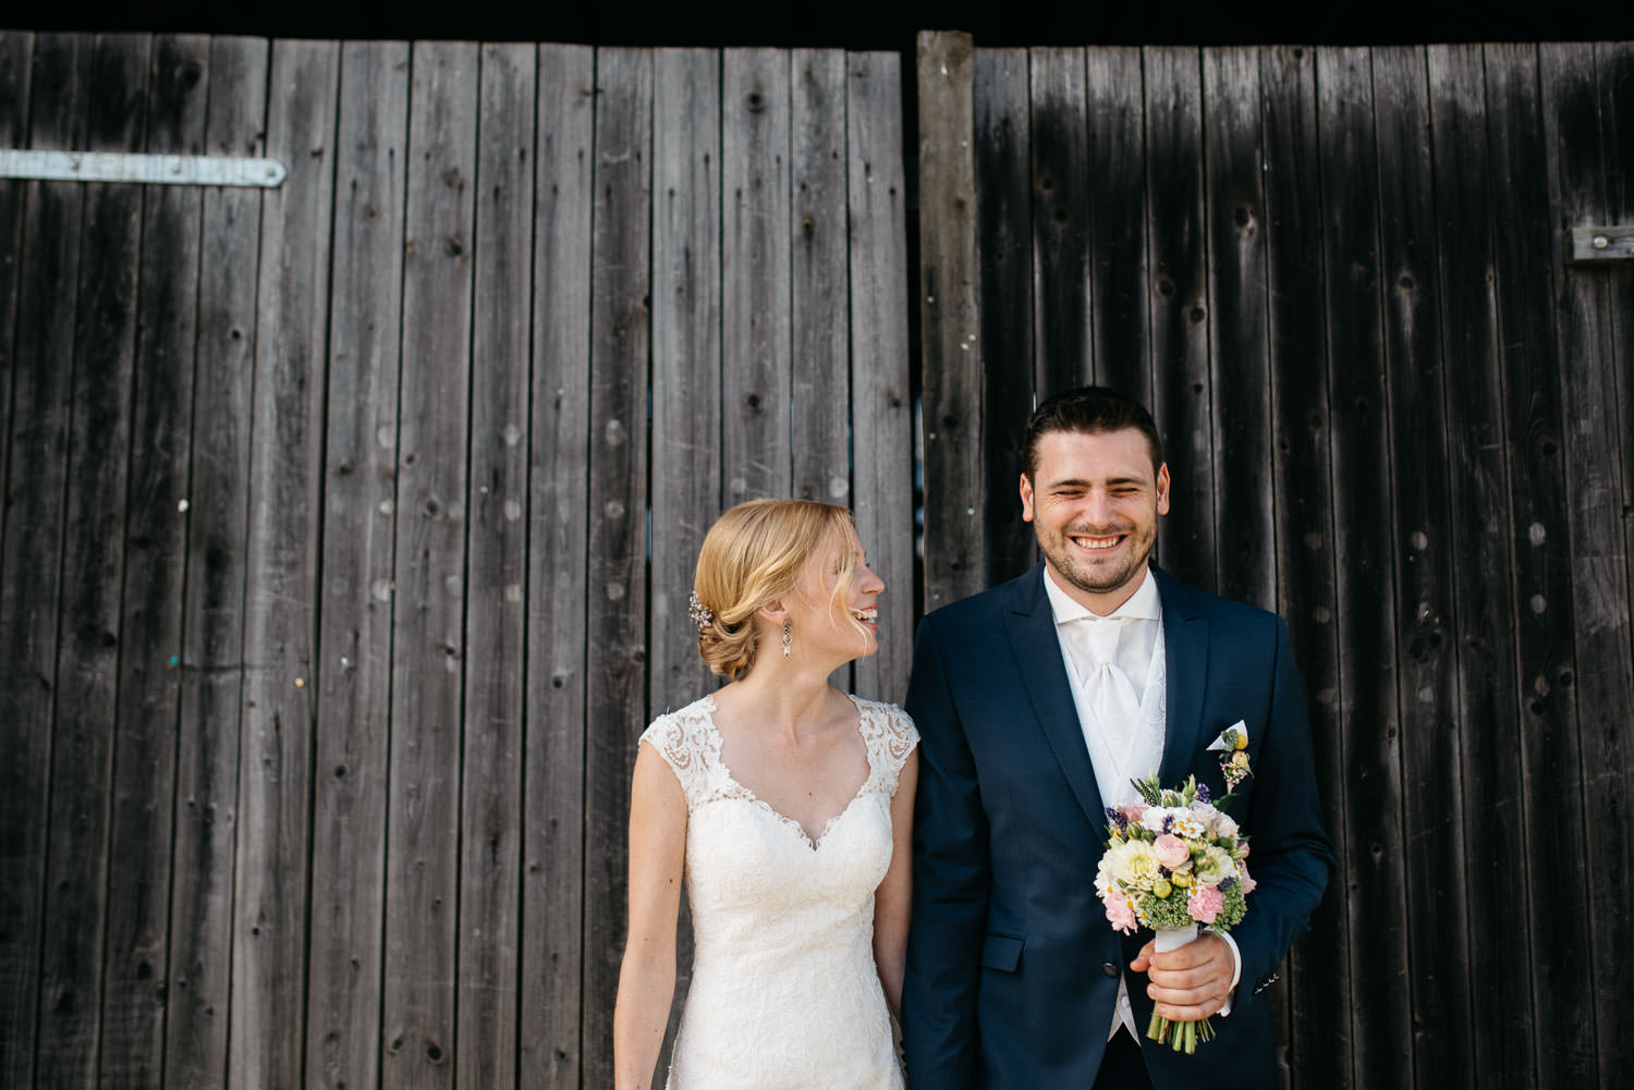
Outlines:
{"label": "smiling man in navy suit and white tie holding bouquet", "polygon": [[[1028,422],[1021,516],[1044,562],[920,623],[913,923],[902,1000],[913,1090],[1273,1087],[1260,995],[1322,897],[1322,833],[1299,673],[1270,613],[1150,561],[1168,511],[1157,427],[1103,387]],[[1227,807],[1250,837],[1248,915],[1154,954],[1095,896],[1105,807],[1129,780],[1226,794],[1208,747],[1242,721],[1252,775]],[[1145,1039],[1212,1015],[1196,1056]]]}

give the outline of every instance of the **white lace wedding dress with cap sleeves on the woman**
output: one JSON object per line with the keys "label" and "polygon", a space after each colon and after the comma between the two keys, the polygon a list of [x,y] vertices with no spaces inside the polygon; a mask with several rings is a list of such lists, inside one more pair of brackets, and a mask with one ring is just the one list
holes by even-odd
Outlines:
{"label": "white lace wedding dress with cap sleeves on the woman", "polygon": [[851,699],[869,773],[815,843],[732,778],[712,698],[641,735],[675,770],[690,812],[693,982],[670,1090],[902,1087],[874,969],[874,889],[891,864],[891,796],[918,732],[894,704]]}

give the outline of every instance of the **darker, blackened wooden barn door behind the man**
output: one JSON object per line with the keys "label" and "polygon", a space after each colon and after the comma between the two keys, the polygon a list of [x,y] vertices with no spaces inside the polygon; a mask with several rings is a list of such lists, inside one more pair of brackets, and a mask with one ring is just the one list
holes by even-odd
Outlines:
{"label": "darker, blackened wooden barn door behind the man", "polygon": [[1034,391],[1149,399],[1162,562],[1304,670],[1340,871],[1288,1082],[1619,1080],[1634,273],[1562,243],[1634,226],[1634,46],[926,34],[918,87],[926,598],[1031,562]]}

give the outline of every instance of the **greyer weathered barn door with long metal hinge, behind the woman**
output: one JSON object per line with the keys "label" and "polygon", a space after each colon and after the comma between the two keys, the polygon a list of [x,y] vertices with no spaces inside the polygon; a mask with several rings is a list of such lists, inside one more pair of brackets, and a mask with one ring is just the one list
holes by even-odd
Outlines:
{"label": "greyer weathered barn door with long metal hinge, behind the woman", "polygon": [[634,739],[722,507],[912,634],[900,65],[0,34],[0,1083],[611,1082]]}

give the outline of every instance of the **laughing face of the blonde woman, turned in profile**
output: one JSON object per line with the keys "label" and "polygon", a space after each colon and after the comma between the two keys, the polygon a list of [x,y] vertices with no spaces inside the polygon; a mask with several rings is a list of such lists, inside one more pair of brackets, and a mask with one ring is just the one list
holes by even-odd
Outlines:
{"label": "laughing face of the blonde woman, turned in profile", "polygon": [[874,654],[879,595],[886,583],[868,567],[863,544],[850,529],[830,534],[786,598],[792,647],[801,655],[850,662]]}

